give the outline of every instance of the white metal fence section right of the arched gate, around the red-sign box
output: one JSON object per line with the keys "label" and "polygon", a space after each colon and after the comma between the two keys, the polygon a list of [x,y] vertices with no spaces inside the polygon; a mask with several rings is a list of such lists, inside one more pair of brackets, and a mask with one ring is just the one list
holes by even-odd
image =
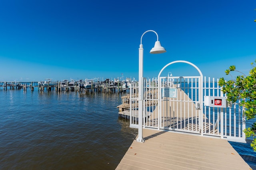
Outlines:
{"label": "white metal fence section right of the arched gate, around the red-sign box", "polygon": [[[218,79],[204,77],[204,96],[224,96],[221,87],[218,86]],[[246,117],[243,114],[244,108],[240,105],[241,101],[230,107],[209,107],[204,106],[204,123],[211,123],[211,126],[204,128],[204,135],[219,136],[228,141],[237,141],[245,143]],[[209,130],[208,130],[209,129]],[[215,129],[215,130],[214,130]],[[212,133],[210,133],[212,131]]]}

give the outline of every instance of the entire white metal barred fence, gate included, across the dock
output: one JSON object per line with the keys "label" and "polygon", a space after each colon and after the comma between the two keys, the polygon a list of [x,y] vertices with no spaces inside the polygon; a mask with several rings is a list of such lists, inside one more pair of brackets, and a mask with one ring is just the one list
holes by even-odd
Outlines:
{"label": "entire white metal barred fence, gate included, across the dock", "polygon": [[[218,79],[200,76],[161,77],[144,80],[143,127],[220,137],[245,142],[245,116],[237,104],[219,108],[201,106],[203,96],[224,96]],[[165,96],[165,88],[176,88],[176,96]],[[159,90],[159,89],[160,90]],[[200,96],[202,90],[203,96]],[[130,88],[130,127],[138,127],[138,84]]]}

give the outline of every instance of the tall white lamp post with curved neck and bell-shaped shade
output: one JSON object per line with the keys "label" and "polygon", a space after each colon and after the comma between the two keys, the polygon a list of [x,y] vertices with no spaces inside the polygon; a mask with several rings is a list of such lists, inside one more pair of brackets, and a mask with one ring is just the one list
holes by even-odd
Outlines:
{"label": "tall white lamp post with curved neck and bell-shaped shade", "polygon": [[[148,30],[144,32],[140,38],[140,48],[139,48],[139,99],[138,99],[138,111],[139,111],[139,119],[138,119],[138,138],[136,139],[137,142],[144,142],[143,135],[142,135],[142,125],[143,125],[143,100],[144,100],[144,90],[143,90],[143,45],[142,45],[142,37],[145,33],[147,32],[154,32],[156,31],[153,30]],[[155,46],[150,50],[150,54],[160,54],[160,53],[165,53],[166,50],[164,47],[161,46],[160,41],[158,41],[158,34],[156,33],[157,41],[155,42]]]}

